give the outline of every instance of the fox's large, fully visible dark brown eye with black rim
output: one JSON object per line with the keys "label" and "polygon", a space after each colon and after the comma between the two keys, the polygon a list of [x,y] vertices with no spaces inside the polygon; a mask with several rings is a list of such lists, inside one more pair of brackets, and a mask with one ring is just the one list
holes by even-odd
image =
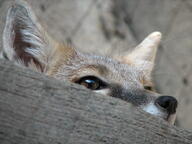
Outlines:
{"label": "fox's large, fully visible dark brown eye with black rim", "polygon": [[75,83],[85,86],[91,90],[101,90],[107,87],[107,84],[95,76],[85,76]]}

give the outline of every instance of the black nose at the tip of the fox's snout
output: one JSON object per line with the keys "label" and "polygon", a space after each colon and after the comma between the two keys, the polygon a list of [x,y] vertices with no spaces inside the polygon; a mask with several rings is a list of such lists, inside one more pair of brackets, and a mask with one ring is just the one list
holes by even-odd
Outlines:
{"label": "black nose at the tip of the fox's snout", "polygon": [[155,100],[155,104],[165,109],[168,114],[173,114],[177,109],[177,100],[172,96],[160,96]]}

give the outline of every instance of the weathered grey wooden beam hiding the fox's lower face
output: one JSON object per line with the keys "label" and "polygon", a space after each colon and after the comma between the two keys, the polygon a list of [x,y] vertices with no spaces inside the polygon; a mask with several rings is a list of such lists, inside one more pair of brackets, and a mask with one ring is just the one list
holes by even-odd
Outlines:
{"label": "weathered grey wooden beam hiding the fox's lower face", "polygon": [[192,133],[0,60],[0,144],[191,144]]}

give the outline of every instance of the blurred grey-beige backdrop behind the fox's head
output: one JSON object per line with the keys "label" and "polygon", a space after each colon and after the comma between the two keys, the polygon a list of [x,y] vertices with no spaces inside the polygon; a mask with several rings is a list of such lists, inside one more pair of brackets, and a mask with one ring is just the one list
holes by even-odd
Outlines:
{"label": "blurred grey-beige backdrop behind the fox's head", "polygon": [[[0,33],[13,0],[0,0]],[[131,50],[149,33],[163,34],[153,78],[179,101],[177,126],[192,130],[191,0],[27,0],[56,39],[101,55]],[[0,39],[2,45],[2,39]]]}

